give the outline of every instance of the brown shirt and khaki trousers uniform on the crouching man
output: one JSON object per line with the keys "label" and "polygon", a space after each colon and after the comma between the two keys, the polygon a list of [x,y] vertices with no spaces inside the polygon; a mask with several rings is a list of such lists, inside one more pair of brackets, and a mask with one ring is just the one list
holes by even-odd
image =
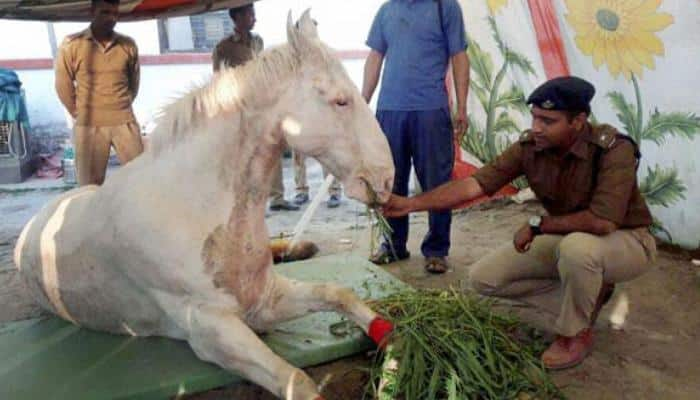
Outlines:
{"label": "brown shirt and khaki trousers uniform on the crouching man", "polygon": [[636,145],[608,125],[589,125],[559,157],[537,151],[529,132],[474,174],[491,195],[520,175],[550,215],[589,210],[618,225],[606,236],[541,235],[526,253],[509,243],[471,269],[472,286],[492,296],[522,298],[562,289],[555,330],[574,336],[590,325],[602,284],[633,279],[656,257],[651,213],[639,192]]}

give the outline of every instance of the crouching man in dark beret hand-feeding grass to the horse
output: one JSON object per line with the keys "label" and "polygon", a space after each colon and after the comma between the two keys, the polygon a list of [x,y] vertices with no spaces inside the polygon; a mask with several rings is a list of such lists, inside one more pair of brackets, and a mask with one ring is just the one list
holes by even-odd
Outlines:
{"label": "crouching man in dark beret hand-feeding grass to the horse", "polygon": [[594,93],[580,78],[546,82],[528,98],[532,129],[496,160],[417,197],[392,196],[384,209],[389,216],[449,209],[526,176],[548,215],[530,218],[513,243],[474,264],[469,278],[477,292],[507,298],[561,288],[558,337],[542,355],[551,369],[583,361],[614,284],[643,274],[656,257],[637,184],[637,145],[588,122]]}

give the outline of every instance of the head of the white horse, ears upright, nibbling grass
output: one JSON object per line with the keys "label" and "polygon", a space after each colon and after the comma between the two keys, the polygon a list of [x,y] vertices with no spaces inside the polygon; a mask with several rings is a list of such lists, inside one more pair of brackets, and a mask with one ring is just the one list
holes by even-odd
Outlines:
{"label": "head of the white horse, ears upright, nibbling grass", "polygon": [[319,40],[308,11],[297,24],[290,14],[287,37],[300,68],[278,102],[285,140],[341,180],[348,196],[365,203],[386,201],[394,163],[371,110],[338,58]]}

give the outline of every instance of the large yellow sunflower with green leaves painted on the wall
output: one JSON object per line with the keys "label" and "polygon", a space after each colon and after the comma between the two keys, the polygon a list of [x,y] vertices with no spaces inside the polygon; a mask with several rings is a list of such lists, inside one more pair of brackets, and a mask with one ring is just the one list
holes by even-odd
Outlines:
{"label": "large yellow sunflower with green leaves painted on the wall", "polygon": [[[674,18],[659,12],[662,0],[564,0],[566,20],[575,31],[575,43],[592,57],[599,69],[605,65],[610,74],[622,75],[634,89],[634,103],[621,92],[611,91],[607,98],[627,134],[639,143],[663,145],[670,137],[691,140],[700,133],[700,118],[686,111],[662,112],[654,109],[645,118],[640,79],[644,69],[654,70],[655,57],[663,57],[664,43],[657,36],[673,24]],[[685,199],[687,187],[675,166],[648,167],[640,189],[649,205],[669,207]],[[660,223],[669,240],[673,238]]]}

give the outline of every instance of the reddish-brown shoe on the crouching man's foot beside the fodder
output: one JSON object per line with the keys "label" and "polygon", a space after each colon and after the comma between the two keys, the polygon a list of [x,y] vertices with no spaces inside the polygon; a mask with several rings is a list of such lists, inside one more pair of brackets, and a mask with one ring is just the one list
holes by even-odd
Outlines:
{"label": "reddish-brown shoe on the crouching man's foot beside the fodder", "polygon": [[593,350],[593,331],[587,328],[576,336],[557,336],[542,353],[542,363],[547,369],[565,369],[581,364]]}

